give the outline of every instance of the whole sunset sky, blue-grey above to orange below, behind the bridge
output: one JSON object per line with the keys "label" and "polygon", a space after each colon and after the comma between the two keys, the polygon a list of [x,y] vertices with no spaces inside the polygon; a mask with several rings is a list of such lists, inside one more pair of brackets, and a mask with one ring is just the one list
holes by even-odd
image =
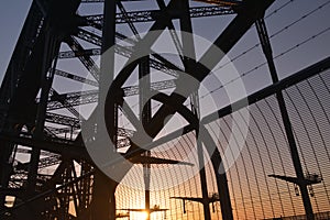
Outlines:
{"label": "whole sunset sky, blue-grey above to orange below, behind the bridge", "polygon": [[[152,0],[146,0],[143,3],[124,3],[124,6],[128,6],[130,9],[143,10],[148,7],[152,8],[154,6],[153,2]],[[31,0],[1,0],[0,2],[0,28],[2,30],[0,34],[0,81],[6,74],[8,63],[30,4]],[[193,2],[193,4],[205,6],[196,2]],[[99,6],[92,8],[90,4],[81,7],[78,11],[84,14],[88,10],[89,12],[100,13]],[[265,22],[273,45],[279,78],[285,78],[330,55],[329,14],[330,0],[277,0],[267,10]],[[232,15],[194,19],[193,25],[195,34],[205,37],[209,42],[213,42],[231,19]],[[148,25],[150,24],[140,23],[136,24],[136,28],[141,31],[145,31]],[[120,25],[119,29],[123,33],[129,33],[128,28],[123,25]],[[67,48],[65,45],[62,47],[62,50]],[[200,48],[197,51],[197,57],[202,54],[205,48]],[[168,57],[170,56],[168,55]],[[237,73],[242,76],[241,79],[246,90],[246,94],[241,94],[240,97],[235,97],[235,100],[271,85],[270,74],[261,46],[258,45],[255,26],[252,26],[232,51],[230,51],[228,58],[232,59],[233,67]],[[72,61],[67,63],[63,62],[58,65],[58,68],[67,68],[73,73],[80,73],[82,67],[81,65],[76,65],[76,63]],[[84,76],[85,74],[86,76],[86,73],[85,69],[85,73],[81,75]],[[208,114],[229,103],[229,100],[223,98],[227,92],[226,89],[217,89],[219,85],[215,82],[215,78],[212,77],[213,76],[206,78],[202,84],[206,89],[200,90],[199,94],[201,96],[200,106],[202,108],[202,114]],[[224,82],[230,81],[232,79],[231,77],[234,78],[233,76],[226,76],[223,79]],[[295,128],[295,136],[301,140],[298,146],[301,150],[299,153],[304,157],[304,170],[309,172],[308,168],[310,168],[311,172],[323,173],[326,184],[315,187],[315,191],[320,195],[318,198],[321,198],[321,201],[317,201],[317,199],[312,198],[312,205],[317,207],[316,210],[318,211],[329,209],[329,207],[327,207],[329,205],[327,187],[329,188],[328,184],[330,182],[330,173],[327,167],[327,165],[329,165],[329,155],[328,157],[324,155],[329,153],[330,138],[327,138],[329,124],[324,121],[328,119],[327,116],[330,108],[326,105],[327,100],[329,101],[328,96],[322,94],[328,89],[326,82],[330,82],[329,74],[317,76],[308,82],[288,88],[284,91],[285,99],[289,106],[289,116],[292,117]],[[61,92],[68,92],[70,89],[73,91],[80,89],[80,85],[70,87],[70,82],[59,77],[55,77],[54,86]],[[316,91],[314,88],[316,88]],[[320,99],[316,97],[320,97]],[[209,98],[213,99],[212,101],[215,101],[217,108],[213,106],[210,107]],[[132,98],[132,102],[134,101],[136,101],[136,99]],[[237,219],[279,217],[278,213],[284,212],[285,209],[287,209],[287,215],[289,216],[302,213],[301,199],[295,196],[294,185],[267,177],[267,175],[274,173],[295,175],[287,142],[283,135],[283,124],[276,103],[275,96],[272,96],[253,105],[250,110],[251,121],[245,146],[228,175],[232,206]],[[326,107],[322,107],[321,103]],[[242,112],[239,112],[239,114],[240,113]],[[241,117],[241,114],[239,117]],[[124,120],[125,119],[122,119],[120,122],[121,125],[125,123]],[[206,124],[206,128],[211,133],[221,153],[226,151],[226,145],[231,138],[229,132],[231,129],[230,123],[234,120],[232,116],[227,116],[223,119]],[[315,123],[315,121],[317,121],[317,123]],[[244,123],[246,121],[244,121]],[[318,123],[320,123],[319,127],[316,125]],[[170,125],[179,128],[183,127],[183,124],[184,122],[179,123],[178,121],[174,121]],[[235,138],[235,143],[238,139],[239,138]],[[314,145],[314,143],[316,144]],[[177,156],[179,160],[183,158],[183,161],[185,161],[187,158],[185,156],[182,157],[182,153],[186,153],[186,151],[189,152],[189,145],[195,145],[194,138],[183,135],[169,144],[160,146],[157,148],[158,152],[154,151],[153,155],[161,157]],[[179,151],[177,151],[177,148],[179,148]],[[312,148],[312,151],[310,148]],[[209,160],[208,156],[206,156],[206,158]],[[320,158],[320,162],[317,158]],[[196,153],[193,154],[190,160],[191,163],[197,164]],[[198,175],[193,175],[191,178],[185,179],[186,182],[180,186],[175,185],[183,176],[185,177],[185,175],[191,174],[191,172],[197,170],[197,168],[195,167],[194,169],[191,167],[182,166],[177,169],[167,169],[168,167],[166,166],[154,167],[154,169],[152,169],[152,184],[157,185],[157,183],[162,182],[157,186],[164,183],[166,185],[166,180],[169,179],[168,182],[170,182],[173,186],[169,184],[170,187],[164,190],[152,191],[151,205],[160,205],[161,208],[172,209],[172,211],[166,213],[167,219],[199,219],[200,217],[198,215],[200,215],[202,210],[200,205],[188,202],[188,213],[184,215],[183,202],[180,200],[169,199],[169,197],[173,196],[200,196]],[[142,166],[135,166],[124,180],[127,180],[127,183],[132,183],[135,179],[142,182],[143,176],[141,176],[141,170]],[[216,191],[216,184],[209,166],[207,166],[207,173],[210,183],[208,190],[209,193],[213,193]],[[175,175],[177,176],[173,177]],[[143,193],[139,186],[136,189],[120,185],[118,205],[121,206],[121,208],[143,208]],[[128,200],[128,197],[122,195],[130,195],[131,199]],[[220,216],[219,204],[216,205],[215,209],[215,213],[212,215],[216,218]],[[258,212],[257,210],[262,211]],[[152,215],[155,216],[154,219],[164,218],[165,216],[164,213]],[[141,219],[143,213],[133,213],[132,218]]]}

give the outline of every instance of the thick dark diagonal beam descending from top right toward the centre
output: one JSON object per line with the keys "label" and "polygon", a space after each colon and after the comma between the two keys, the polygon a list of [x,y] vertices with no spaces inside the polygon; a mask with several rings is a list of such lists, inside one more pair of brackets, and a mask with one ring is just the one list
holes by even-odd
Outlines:
{"label": "thick dark diagonal beam descending from top right toward the centre", "polygon": [[[227,26],[227,29],[218,36],[213,42],[213,45],[218,46],[224,54],[228,53],[234,44],[244,35],[244,33],[250,29],[250,26],[261,16],[263,16],[265,10],[274,2],[274,0],[263,1],[263,3],[257,3],[257,1],[249,1],[244,8],[239,12],[239,14],[232,20],[232,22]],[[194,72],[188,73],[197,80],[202,81],[205,77],[210,73],[210,70],[222,59],[222,57],[215,56],[212,47],[210,47],[196,63]],[[209,64],[209,68],[206,68],[201,64]],[[184,84],[184,81],[178,81],[178,85]],[[198,88],[190,87],[185,89],[186,97],[188,97],[194,90]],[[177,96],[178,92],[175,90],[170,95],[170,99],[177,101],[177,103],[184,103],[186,98],[183,96]],[[183,94],[182,94],[183,95]],[[155,136],[163,127],[164,119],[174,114],[174,110],[170,107],[162,106],[158,111],[152,118],[150,124],[146,128],[146,132],[151,136]]]}

